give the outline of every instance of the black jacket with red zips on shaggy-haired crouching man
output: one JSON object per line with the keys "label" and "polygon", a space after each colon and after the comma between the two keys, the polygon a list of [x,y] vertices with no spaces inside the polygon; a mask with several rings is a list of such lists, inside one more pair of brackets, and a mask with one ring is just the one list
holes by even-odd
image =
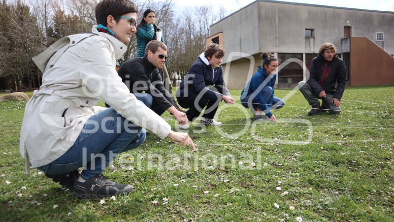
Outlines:
{"label": "black jacket with red zips on shaggy-haired crouching man", "polygon": [[[307,83],[316,95],[325,91],[341,99],[346,86],[346,66],[338,55],[335,54],[332,61],[326,61],[322,55],[313,58],[309,72]],[[338,84],[336,89],[335,83]]]}

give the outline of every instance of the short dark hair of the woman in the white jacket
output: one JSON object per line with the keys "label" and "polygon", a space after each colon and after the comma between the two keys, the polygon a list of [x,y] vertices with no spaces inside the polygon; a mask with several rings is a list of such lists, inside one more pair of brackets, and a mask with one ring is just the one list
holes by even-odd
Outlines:
{"label": "short dark hair of the woman in the white jacket", "polygon": [[107,25],[107,17],[112,15],[118,22],[122,16],[127,13],[137,13],[137,6],[130,0],[102,0],[95,8],[96,22],[103,26]]}

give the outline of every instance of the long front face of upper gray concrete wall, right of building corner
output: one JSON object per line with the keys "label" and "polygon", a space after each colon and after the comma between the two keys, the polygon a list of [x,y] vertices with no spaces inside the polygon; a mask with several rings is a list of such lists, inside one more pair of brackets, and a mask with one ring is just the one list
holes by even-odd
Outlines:
{"label": "long front face of upper gray concrete wall, right of building corner", "polygon": [[[394,53],[394,13],[264,1],[256,3],[260,15],[262,52],[317,53],[322,43],[332,42],[341,53],[343,27],[349,21],[352,36],[366,36],[376,41],[376,32],[384,32],[384,49],[389,54]],[[305,29],[314,29],[315,38],[305,38]]]}

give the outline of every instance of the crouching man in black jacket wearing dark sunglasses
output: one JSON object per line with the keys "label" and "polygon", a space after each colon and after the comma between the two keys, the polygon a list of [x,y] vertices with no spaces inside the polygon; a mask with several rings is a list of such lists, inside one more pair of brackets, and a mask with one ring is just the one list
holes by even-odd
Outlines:
{"label": "crouching man in black jacket wearing dark sunglasses", "polygon": [[167,110],[175,117],[178,124],[188,125],[186,114],[175,108],[174,100],[165,90],[159,74],[158,68],[163,67],[166,58],[167,46],[161,41],[152,40],[146,46],[145,56],[123,63],[118,74],[130,89],[130,93],[159,116]]}

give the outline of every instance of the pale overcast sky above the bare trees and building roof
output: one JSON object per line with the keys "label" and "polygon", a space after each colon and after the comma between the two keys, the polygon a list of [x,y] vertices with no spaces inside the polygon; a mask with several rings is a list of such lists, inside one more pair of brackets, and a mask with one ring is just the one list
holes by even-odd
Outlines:
{"label": "pale overcast sky above the bare trees and building roof", "polygon": [[[223,6],[228,14],[245,7],[255,0],[173,0],[175,13],[182,13],[187,8],[194,6],[210,5],[214,11],[219,11]],[[394,0],[286,0],[288,2],[299,2],[308,4],[320,4],[346,8],[361,8],[379,11],[394,11]]]}

